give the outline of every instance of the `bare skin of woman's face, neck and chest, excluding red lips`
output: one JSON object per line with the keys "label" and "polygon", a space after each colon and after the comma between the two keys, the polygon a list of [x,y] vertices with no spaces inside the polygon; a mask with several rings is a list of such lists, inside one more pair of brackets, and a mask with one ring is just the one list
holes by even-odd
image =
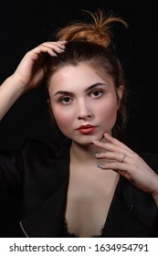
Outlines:
{"label": "bare skin of woman's face, neck and chest, excluding red lips", "polygon": [[[117,91],[120,99],[122,90],[121,86]],[[100,233],[118,182],[113,171],[99,170],[100,159],[93,156],[97,149],[93,141],[104,141],[103,133],[111,133],[120,101],[112,78],[85,63],[58,69],[49,81],[48,91],[58,127],[72,141],[68,229],[79,237],[90,237]],[[85,124],[94,125],[94,130],[79,133],[78,128]]]}

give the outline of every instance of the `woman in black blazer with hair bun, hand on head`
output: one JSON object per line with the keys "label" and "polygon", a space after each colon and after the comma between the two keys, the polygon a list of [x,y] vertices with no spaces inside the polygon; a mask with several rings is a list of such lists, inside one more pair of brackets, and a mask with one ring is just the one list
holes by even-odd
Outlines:
{"label": "woman in black blazer with hair bun, hand on head", "polygon": [[118,140],[126,87],[110,26],[126,23],[101,11],[90,16],[90,24],[69,24],[56,42],[27,52],[1,86],[2,119],[46,80],[60,135],[58,144],[28,140],[21,153],[2,152],[1,194],[21,197],[28,237],[156,236],[157,163]]}

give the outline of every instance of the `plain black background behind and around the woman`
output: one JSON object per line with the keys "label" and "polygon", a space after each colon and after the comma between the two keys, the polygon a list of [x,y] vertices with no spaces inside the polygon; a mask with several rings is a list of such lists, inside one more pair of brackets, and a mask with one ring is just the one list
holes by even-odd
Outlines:
{"label": "plain black background behind and around the woman", "polygon": [[[157,47],[158,16],[156,0],[151,1],[0,1],[0,82],[11,75],[27,50],[71,20],[84,19],[80,10],[122,16],[128,29],[116,32],[116,50],[130,89],[130,120],[123,137],[137,152],[158,152]],[[26,137],[49,140],[44,85],[28,91],[16,101],[0,125],[0,149],[19,149]],[[18,204],[14,197],[0,200],[0,236],[20,236]],[[1,224],[2,222],[2,224]],[[4,229],[3,229],[4,227]]]}

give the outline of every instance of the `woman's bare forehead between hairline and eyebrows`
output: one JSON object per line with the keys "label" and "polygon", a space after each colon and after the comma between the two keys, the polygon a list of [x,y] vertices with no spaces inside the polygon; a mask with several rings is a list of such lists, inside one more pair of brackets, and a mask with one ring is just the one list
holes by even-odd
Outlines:
{"label": "woman's bare forehead between hairline and eyebrows", "polygon": [[86,89],[96,82],[113,84],[111,76],[105,70],[80,63],[78,66],[68,65],[58,69],[49,80],[49,88],[51,91]]}

